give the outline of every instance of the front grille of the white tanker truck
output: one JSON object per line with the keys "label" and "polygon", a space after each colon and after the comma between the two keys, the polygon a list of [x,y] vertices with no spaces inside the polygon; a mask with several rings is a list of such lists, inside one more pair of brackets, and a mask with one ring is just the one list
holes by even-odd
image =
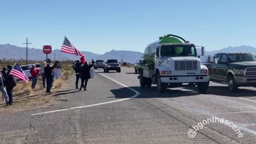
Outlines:
{"label": "front grille of the white tanker truck", "polygon": [[175,61],[175,70],[197,70],[197,61]]}

